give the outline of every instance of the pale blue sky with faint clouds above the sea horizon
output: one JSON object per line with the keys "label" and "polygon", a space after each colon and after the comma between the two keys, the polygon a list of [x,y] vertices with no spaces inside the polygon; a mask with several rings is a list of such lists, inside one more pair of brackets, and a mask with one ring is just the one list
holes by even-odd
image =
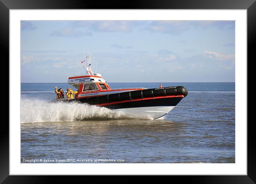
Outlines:
{"label": "pale blue sky with faint clouds above the sea horizon", "polygon": [[21,82],[235,82],[235,21],[21,21]]}

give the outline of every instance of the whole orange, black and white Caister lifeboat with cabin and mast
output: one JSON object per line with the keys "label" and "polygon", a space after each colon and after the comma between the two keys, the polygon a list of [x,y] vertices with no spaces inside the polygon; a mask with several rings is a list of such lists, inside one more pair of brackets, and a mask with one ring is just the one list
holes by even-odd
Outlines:
{"label": "whole orange, black and white Caister lifeboat with cabin and mast", "polygon": [[[158,119],[171,111],[188,94],[183,86],[111,89],[99,73],[94,74],[91,58],[92,56],[88,54],[86,61],[81,61],[86,75],[68,78],[68,83],[78,90],[76,98],[54,99],[51,102],[77,101],[113,111],[123,111],[136,117],[147,116]],[[95,71],[97,71],[97,62]]]}

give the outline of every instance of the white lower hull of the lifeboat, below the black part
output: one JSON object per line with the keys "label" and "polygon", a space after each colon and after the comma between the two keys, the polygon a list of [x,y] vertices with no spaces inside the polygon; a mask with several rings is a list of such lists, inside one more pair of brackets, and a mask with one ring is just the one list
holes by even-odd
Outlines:
{"label": "white lower hull of the lifeboat, below the black part", "polygon": [[157,119],[168,112],[170,112],[175,106],[156,106],[156,107],[135,107],[135,108],[124,108],[124,109],[113,109],[113,111],[122,111],[138,118],[152,118]]}

